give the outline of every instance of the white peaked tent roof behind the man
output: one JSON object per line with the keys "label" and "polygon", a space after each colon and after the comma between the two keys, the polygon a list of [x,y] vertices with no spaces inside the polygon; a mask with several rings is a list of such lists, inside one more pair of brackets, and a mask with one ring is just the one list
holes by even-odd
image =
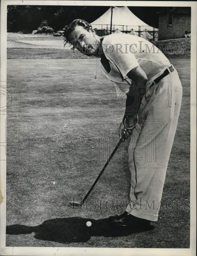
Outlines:
{"label": "white peaked tent roof behind the man", "polygon": [[[90,23],[94,29],[108,29],[110,30],[111,24],[111,7],[104,13],[100,18],[96,19],[94,22]],[[102,25],[102,26],[101,26]],[[108,26],[107,26],[108,25]],[[123,27],[124,26],[124,27]],[[127,26],[127,27],[126,27]],[[135,31],[139,30],[153,31],[153,27],[148,26],[137,16],[135,16],[127,6],[124,7],[114,7],[112,13],[112,30],[123,30],[130,31],[132,28]],[[155,31],[158,29],[155,28]]]}

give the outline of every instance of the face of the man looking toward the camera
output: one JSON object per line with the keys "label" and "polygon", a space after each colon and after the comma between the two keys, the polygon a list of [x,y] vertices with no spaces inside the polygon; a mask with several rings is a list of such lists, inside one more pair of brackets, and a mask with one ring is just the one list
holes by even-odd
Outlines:
{"label": "face of the man looking toward the camera", "polygon": [[80,52],[92,56],[96,51],[97,45],[97,40],[94,35],[94,30],[87,31],[82,26],[76,26],[76,28],[69,34],[68,40]]}

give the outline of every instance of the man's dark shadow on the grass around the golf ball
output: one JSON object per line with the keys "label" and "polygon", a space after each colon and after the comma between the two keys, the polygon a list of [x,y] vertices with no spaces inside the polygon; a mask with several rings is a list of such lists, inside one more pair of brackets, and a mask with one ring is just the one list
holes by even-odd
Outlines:
{"label": "man's dark shadow on the grass around the golf ball", "polygon": [[[91,227],[86,222],[91,221]],[[148,230],[154,229],[150,226]],[[147,230],[147,229],[146,229]],[[59,243],[87,242],[92,236],[120,237],[145,230],[111,228],[106,219],[85,219],[81,217],[57,218],[44,221],[41,225],[31,227],[25,225],[10,225],[6,234],[19,235],[35,232],[35,238]]]}

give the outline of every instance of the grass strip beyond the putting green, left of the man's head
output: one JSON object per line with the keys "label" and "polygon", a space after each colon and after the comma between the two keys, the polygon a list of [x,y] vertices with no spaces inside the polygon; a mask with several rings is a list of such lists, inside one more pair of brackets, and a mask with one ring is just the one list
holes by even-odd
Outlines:
{"label": "grass strip beyond the putting green, left of the man's head", "polygon": [[64,47],[63,37],[7,33],[7,59],[65,59],[90,58],[78,50]]}

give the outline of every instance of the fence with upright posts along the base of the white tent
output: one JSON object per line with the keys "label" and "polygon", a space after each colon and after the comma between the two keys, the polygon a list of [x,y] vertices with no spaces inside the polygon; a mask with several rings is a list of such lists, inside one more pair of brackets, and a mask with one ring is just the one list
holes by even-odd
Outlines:
{"label": "fence with upright posts along the base of the white tent", "polygon": [[[109,24],[94,24],[94,29],[98,36],[105,36],[111,33],[126,33],[126,34],[133,34],[139,37],[146,38],[149,36],[150,41],[157,41],[158,40],[158,32],[159,30],[150,26],[125,26],[125,25],[112,25],[111,33],[110,33],[110,25]],[[97,28],[98,27],[98,28]],[[145,33],[146,34],[145,34]]]}

